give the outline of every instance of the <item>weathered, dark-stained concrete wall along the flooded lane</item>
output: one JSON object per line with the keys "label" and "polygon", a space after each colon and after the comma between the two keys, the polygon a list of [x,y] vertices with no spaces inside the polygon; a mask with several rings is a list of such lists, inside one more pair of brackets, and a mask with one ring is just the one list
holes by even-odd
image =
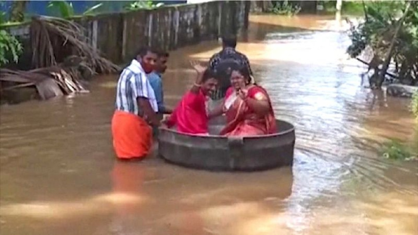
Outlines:
{"label": "weathered, dark-stained concrete wall along the flooded lane", "polygon": [[[76,19],[86,28],[94,48],[115,63],[132,58],[142,45],[173,50],[203,40],[217,39],[222,33],[237,33],[248,25],[246,1],[212,1],[170,5],[155,10],[138,10]],[[28,25],[10,28],[28,35]]]}

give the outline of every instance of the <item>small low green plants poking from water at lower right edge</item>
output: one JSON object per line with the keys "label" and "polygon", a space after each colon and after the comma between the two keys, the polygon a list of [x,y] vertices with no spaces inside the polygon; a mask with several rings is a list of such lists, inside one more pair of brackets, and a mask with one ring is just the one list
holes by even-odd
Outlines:
{"label": "small low green plants poking from water at lower right edge", "polygon": [[416,160],[417,155],[413,154],[400,140],[391,139],[383,144],[381,151],[383,157],[394,160]]}

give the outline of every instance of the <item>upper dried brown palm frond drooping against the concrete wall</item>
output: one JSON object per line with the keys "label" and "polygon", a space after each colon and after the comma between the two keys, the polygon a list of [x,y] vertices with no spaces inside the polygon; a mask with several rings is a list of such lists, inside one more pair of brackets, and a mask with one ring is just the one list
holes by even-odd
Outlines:
{"label": "upper dried brown palm frond drooping against the concrete wall", "polygon": [[30,27],[35,68],[57,65],[62,55],[84,58],[85,66],[97,73],[112,73],[120,68],[100,56],[97,49],[88,43],[84,28],[70,20],[54,17],[34,17]]}

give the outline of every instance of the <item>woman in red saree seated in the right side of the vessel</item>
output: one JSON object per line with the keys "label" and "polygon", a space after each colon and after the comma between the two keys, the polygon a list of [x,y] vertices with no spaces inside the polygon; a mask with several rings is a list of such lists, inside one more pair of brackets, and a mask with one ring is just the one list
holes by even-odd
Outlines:
{"label": "woman in red saree seated in the right side of the vessel", "polygon": [[254,136],[275,133],[277,126],[268,93],[251,83],[247,68],[237,66],[231,71],[232,86],[227,90],[222,106],[227,124],[219,134]]}

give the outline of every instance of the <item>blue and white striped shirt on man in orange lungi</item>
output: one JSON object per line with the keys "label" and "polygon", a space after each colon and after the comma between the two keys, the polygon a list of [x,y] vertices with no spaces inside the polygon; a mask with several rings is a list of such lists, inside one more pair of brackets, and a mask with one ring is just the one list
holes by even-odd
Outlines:
{"label": "blue and white striped shirt on man in orange lungi", "polygon": [[157,100],[148,77],[141,64],[133,60],[120,74],[116,88],[116,109],[138,115],[142,110],[138,108],[137,97],[144,97],[150,101],[151,107],[158,112]]}

